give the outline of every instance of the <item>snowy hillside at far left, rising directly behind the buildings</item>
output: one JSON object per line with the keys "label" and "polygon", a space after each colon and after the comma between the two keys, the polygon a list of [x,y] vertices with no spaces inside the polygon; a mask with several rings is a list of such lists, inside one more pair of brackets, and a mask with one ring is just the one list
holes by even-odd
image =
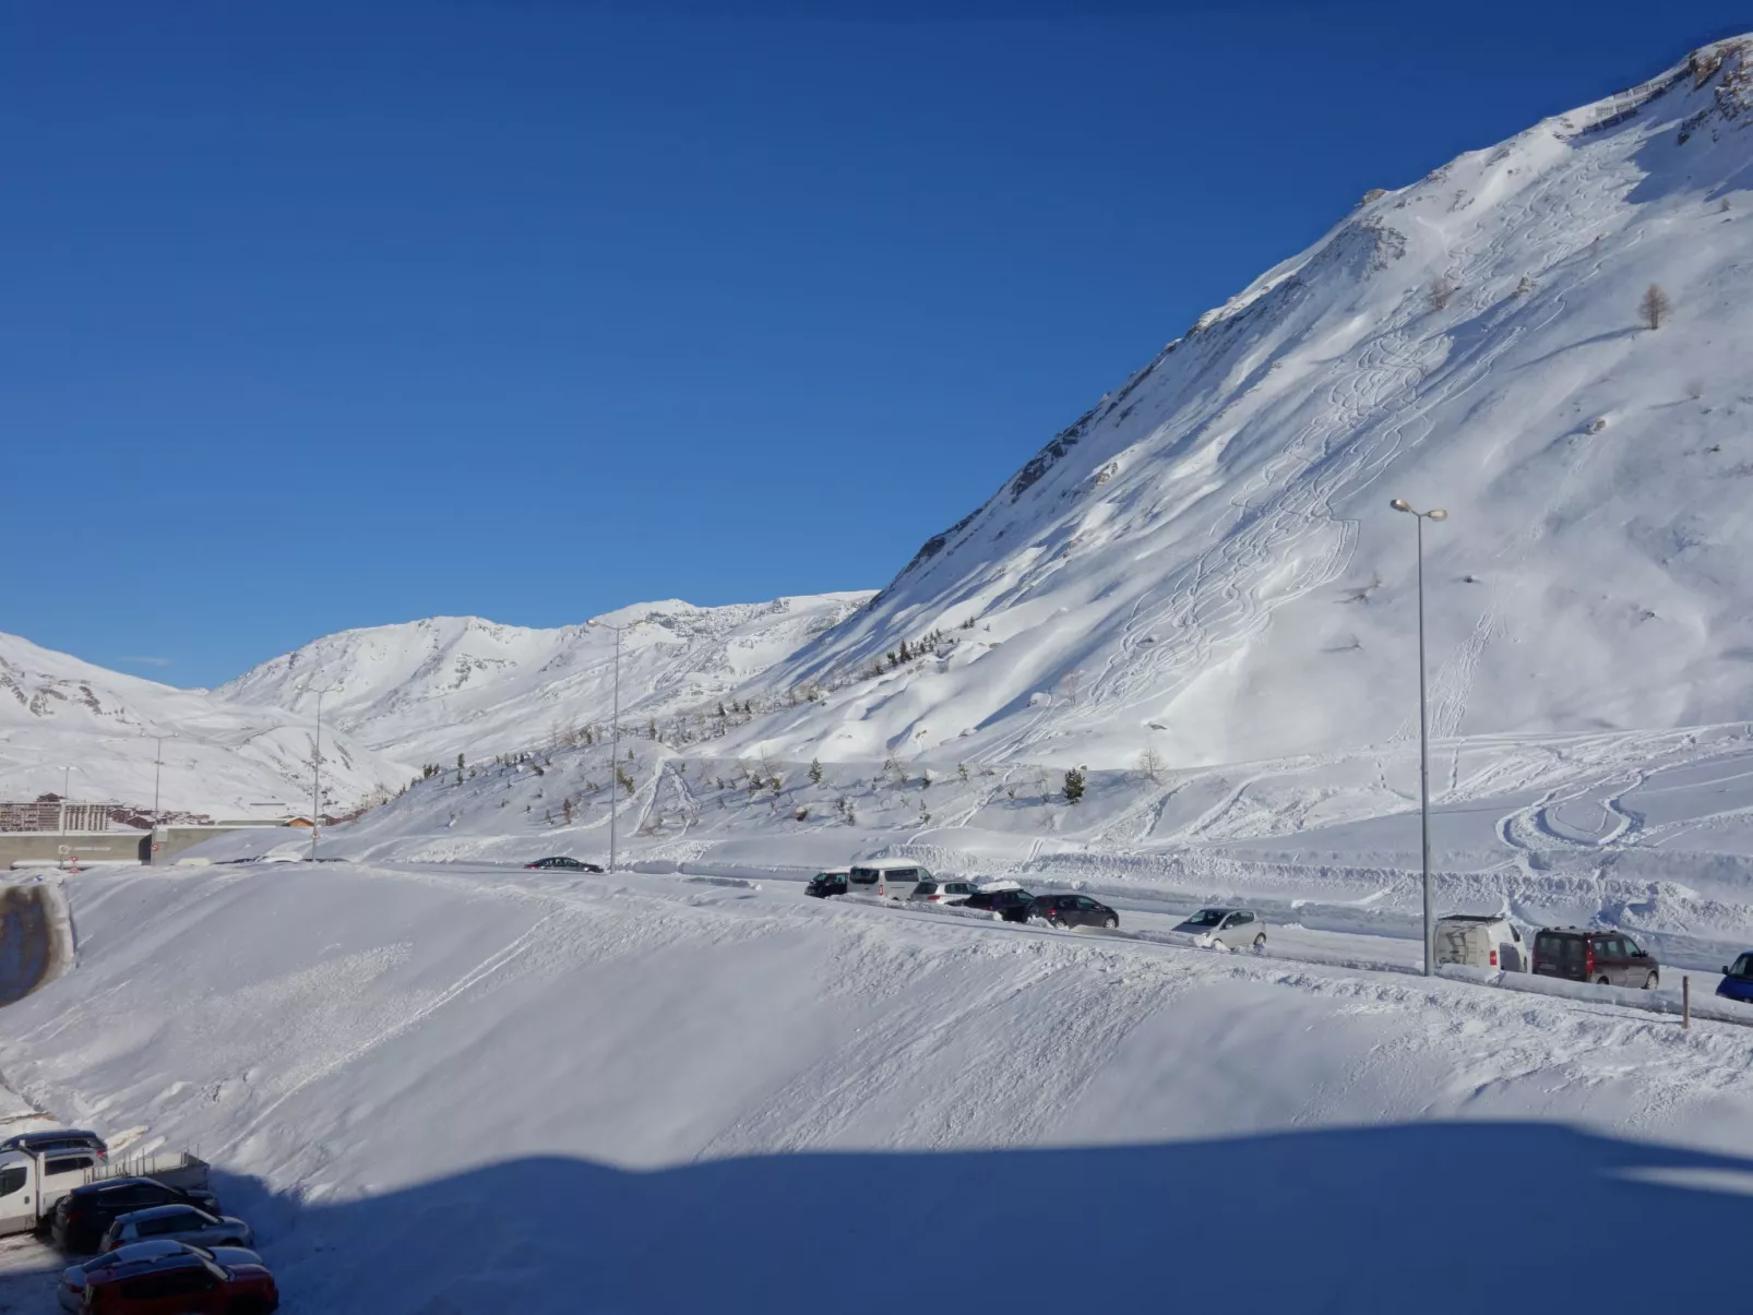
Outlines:
{"label": "snowy hillside at far left, rising directly behind the buildings", "polygon": [[[0,635],[0,798],[153,805],[149,736],[163,745],[167,810],[273,817],[310,810],[316,726],[263,703],[217,701]],[[68,775],[67,766],[74,771]],[[407,782],[410,768],[323,733],[324,805],[347,808]]]}

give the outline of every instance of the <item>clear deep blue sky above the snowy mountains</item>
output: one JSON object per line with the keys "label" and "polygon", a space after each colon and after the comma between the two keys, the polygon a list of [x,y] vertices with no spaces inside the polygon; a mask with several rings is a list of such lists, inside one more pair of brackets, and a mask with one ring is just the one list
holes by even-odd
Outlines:
{"label": "clear deep blue sky above the snowy mountains", "polygon": [[0,0],[0,629],[214,684],[882,586],[1367,188],[1744,26]]}

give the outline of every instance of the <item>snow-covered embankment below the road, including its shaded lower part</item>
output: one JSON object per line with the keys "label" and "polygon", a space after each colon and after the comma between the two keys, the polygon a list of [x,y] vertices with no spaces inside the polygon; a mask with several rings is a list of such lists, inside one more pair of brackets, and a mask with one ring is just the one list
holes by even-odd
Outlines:
{"label": "snow-covered embankment below the road, including its shaded lower part", "polygon": [[65,891],[7,1082],[219,1166],[287,1311],[1474,1311],[1625,1240],[1655,1310],[1742,1285],[1753,1029],[1620,992],[663,875]]}

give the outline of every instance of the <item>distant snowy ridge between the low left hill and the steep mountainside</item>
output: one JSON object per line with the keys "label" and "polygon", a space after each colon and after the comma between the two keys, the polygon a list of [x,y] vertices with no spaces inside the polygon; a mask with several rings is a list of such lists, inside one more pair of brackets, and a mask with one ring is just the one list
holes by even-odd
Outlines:
{"label": "distant snowy ridge between the low left hill and the steep mountainside", "polygon": [[[787,658],[869,593],[692,607],[640,603],[598,621],[622,636],[622,717],[643,724],[692,708]],[[610,719],[614,635],[601,626],[528,629],[431,617],[349,629],[221,686],[221,700],[314,712],[403,761],[449,761],[552,742]]]}

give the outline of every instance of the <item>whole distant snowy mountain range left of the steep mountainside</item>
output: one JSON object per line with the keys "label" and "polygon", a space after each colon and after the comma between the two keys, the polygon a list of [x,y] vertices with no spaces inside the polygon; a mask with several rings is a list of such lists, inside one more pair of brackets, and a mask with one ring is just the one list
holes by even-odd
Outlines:
{"label": "whole distant snowy mountain range left of the steep mountainside", "polygon": [[426,761],[487,757],[603,724],[622,626],[622,721],[724,696],[869,591],[692,607],[640,603],[561,629],[433,617],[330,635],[219,689],[154,680],[0,635],[0,798],[60,793],[144,808],[153,740],[165,743],[163,805],[247,817],[307,810],[316,689],[324,805],[400,789]]}

